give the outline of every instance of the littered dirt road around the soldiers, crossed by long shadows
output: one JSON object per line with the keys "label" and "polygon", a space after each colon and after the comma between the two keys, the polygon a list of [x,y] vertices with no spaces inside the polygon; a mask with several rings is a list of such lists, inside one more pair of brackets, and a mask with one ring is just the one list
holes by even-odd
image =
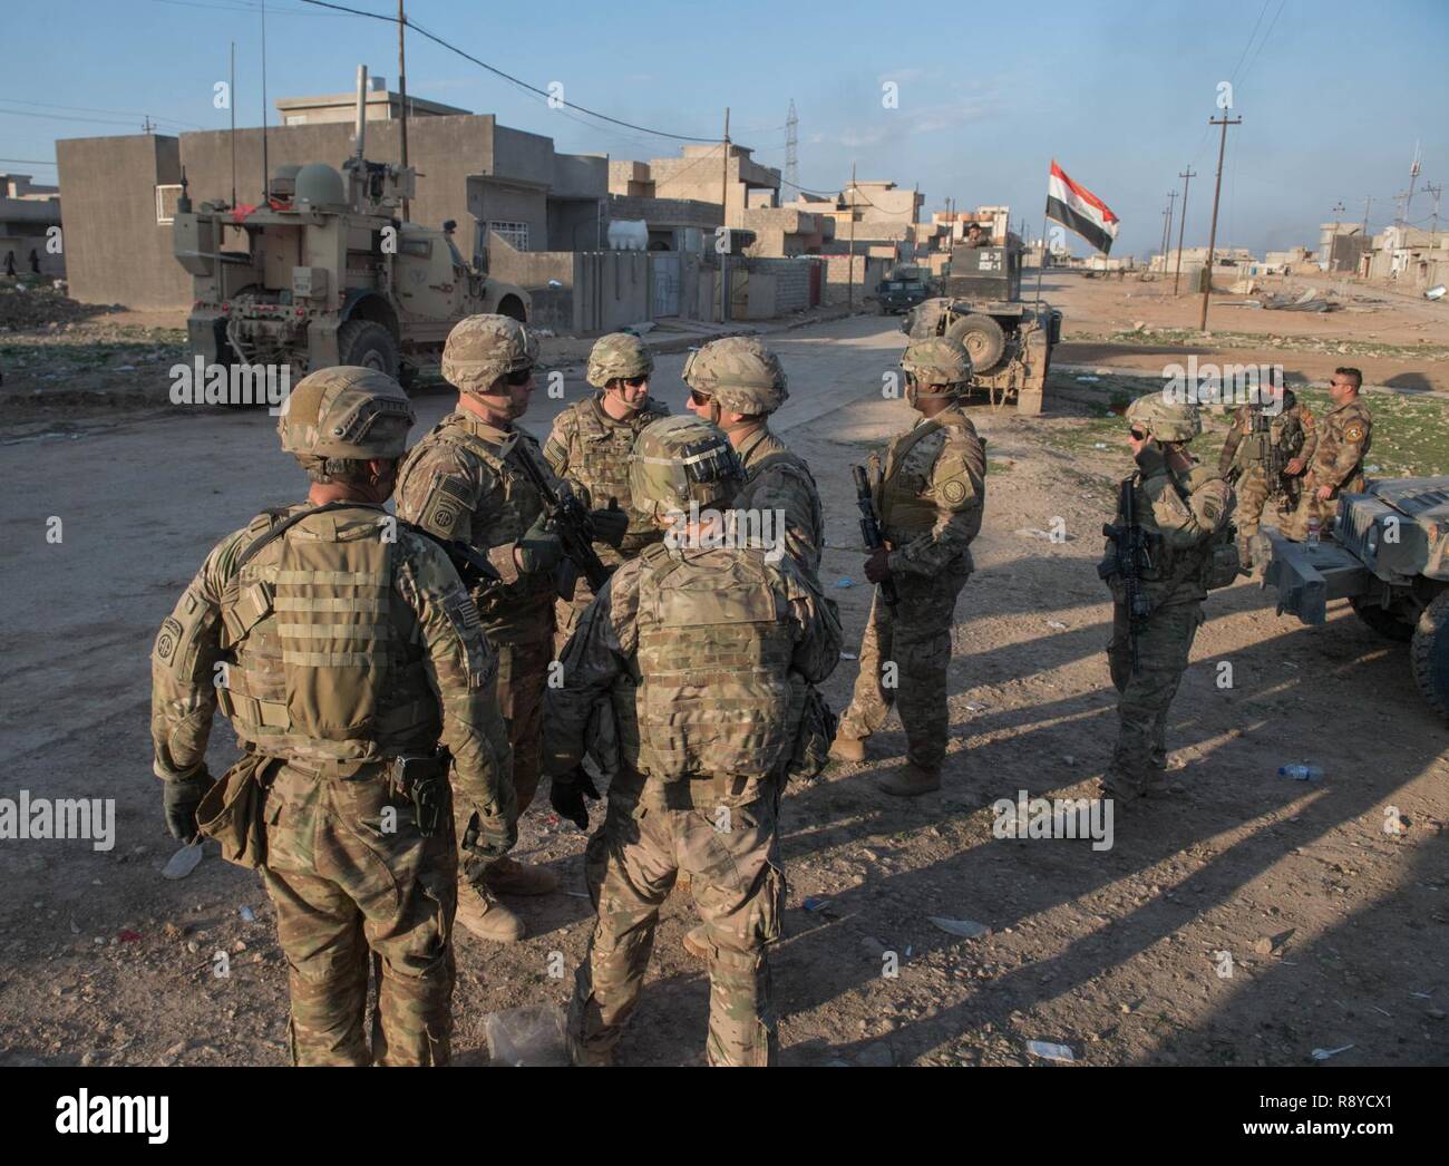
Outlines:
{"label": "littered dirt road around the soldiers, crossed by long shadows", "polygon": [[[777,420],[820,479],[822,579],[853,653],[869,592],[849,464],[910,423],[880,393],[901,337],[858,317],[771,343],[791,378]],[[656,374],[675,410],[680,364],[662,358]],[[572,379],[569,398],[581,391]],[[551,410],[538,404],[542,432]],[[425,398],[422,423],[446,406]],[[175,846],[149,773],[146,658],[206,549],[298,497],[303,478],[265,416],[178,414],[0,446],[0,797],[116,800],[109,852],[0,842],[3,1063],[285,1059],[285,966],[259,882],[214,849],[187,879],[161,876]],[[1064,450],[1058,439],[1093,424],[1085,407],[972,417],[991,469],[978,572],[956,611],[945,787],[906,804],[874,791],[903,762],[893,726],[878,759],[790,791],[788,934],[774,956],[785,1062],[1024,1063],[1029,1040],[1090,1063],[1304,1063],[1343,1046],[1335,1062],[1449,1060],[1449,729],[1419,701],[1403,647],[1352,614],[1308,630],[1253,584],[1214,592],[1169,726],[1177,797],[1117,820],[1107,850],[994,836],[995,801],[1085,795],[1110,756],[1110,611],[1094,563],[1127,462],[1116,448]],[[1056,517],[1066,542],[1040,537]],[[838,585],[846,576],[856,584]],[[842,660],[827,685],[836,707],[853,671]],[[219,727],[213,772],[229,756]],[[1304,758],[1321,782],[1275,776]],[[461,937],[465,1063],[487,1059],[487,1012],[567,1005],[588,930],[582,843],[536,807],[519,853],[552,863],[571,894],[520,904],[532,934],[519,946]],[[691,917],[681,897],[665,905],[626,1063],[703,1057],[707,982],[680,946]],[[991,930],[961,939],[930,917]]]}

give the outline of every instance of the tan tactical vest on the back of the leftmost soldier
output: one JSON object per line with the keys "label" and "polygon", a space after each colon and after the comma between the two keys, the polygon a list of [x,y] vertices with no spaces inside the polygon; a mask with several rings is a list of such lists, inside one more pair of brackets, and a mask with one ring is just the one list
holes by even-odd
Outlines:
{"label": "tan tactical vest on the back of the leftmost soldier", "polygon": [[[255,752],[374,762],[440,731],[425,647],[378,507],[256,519],[222,595],[217,701]],[[274,533],[281,526],[280,534]]]}

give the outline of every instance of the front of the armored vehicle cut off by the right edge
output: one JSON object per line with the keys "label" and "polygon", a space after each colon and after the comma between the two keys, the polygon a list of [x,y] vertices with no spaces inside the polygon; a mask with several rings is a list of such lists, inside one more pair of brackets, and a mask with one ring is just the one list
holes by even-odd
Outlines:
{"label": "front of the armored vehicle cut off by the right edge", "polygon": [[1419,691],[1449,718],[1449,478],[1391,478],[1345,494],[1333,534],[1316,548],[1275,530],[1258,540],[1253,558],[1272,555],[1264,587],[1278,590],[1279,614],[1320,624],[1327,601],[1346,598],[1381,636],[1408,643]]}

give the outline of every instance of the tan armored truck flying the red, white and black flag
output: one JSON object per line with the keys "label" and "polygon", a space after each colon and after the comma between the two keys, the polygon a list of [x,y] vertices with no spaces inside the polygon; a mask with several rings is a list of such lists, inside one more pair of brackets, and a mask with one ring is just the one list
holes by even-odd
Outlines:
{"label": "tan armored truck flying the red, white and black flag", "polygon": [[1014,400],[1019,413],[1040,413],[1062,313],[1022,300],[1022,240],[1009,233],[1001,246],[952,249],[945,291],[906,313],[906,335],[961,340],[993,404]]}

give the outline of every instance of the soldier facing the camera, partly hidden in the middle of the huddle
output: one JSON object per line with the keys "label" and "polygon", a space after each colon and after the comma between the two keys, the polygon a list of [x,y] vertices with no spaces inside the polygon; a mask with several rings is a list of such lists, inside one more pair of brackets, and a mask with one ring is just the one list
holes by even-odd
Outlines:
{"label": "soldier facing the camera, partly hidden in the middle of the huddle", "polygon": [[[617,500],[629,514],[629,530],[617,549],[601,546],[604,566],[619,566],[635,558],[664,533],[629,507],[629,455],[635,437],[669,410],[649,395],[653,356],[649,346],[627,332],[613,332],[594,343],[588,353],[587,379],[598,390],[554,419],[554,430],[543,443],[543,456],[559,478],[565,478],[585,501],[607,506]],[[572,601],[561,598],[554,605],[554,646],[564,650],[578,617],[594,600],[588,581],[580,578]]]}

